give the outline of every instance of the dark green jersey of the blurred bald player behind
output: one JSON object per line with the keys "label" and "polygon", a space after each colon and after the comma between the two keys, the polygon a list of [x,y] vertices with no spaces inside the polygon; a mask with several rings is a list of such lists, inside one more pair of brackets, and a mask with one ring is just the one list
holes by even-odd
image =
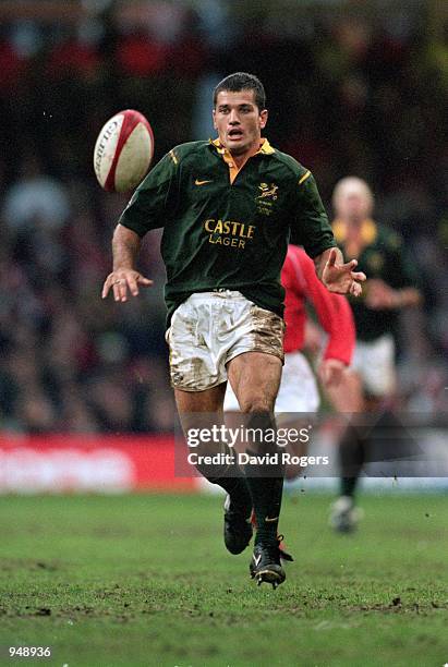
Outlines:
{"label": "dark green jersey of the blurred bald player behind", "polygon": [[[336,220],[332,225],[336,241],[346,254],[346,228],[342,221]],[[356,299],[349,296],[356,338],[364,341],[375,340],[385,333],[395,333],[398,324],[398,311],[386,308],[376,311],[367,308],[364,299],[368,293],[368,279],[379,278],[391,288],[399,290],[407,287],[417,287],[417,277],[411,266],[402,239],[393,230],[374,222],[364,220],[361,227],[361,237],[364,247],[356,257],[360,270],[367,275],[367,282],[363,293]],[[347,253],[350,257],[353,253]]]}

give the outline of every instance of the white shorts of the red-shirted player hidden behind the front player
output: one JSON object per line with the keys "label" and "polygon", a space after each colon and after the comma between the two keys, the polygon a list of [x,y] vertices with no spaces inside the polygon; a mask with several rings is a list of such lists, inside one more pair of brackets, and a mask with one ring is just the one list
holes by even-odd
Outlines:
{"label": "white shorts of the red-shirted player hidden behind the front player", "polygon": [[[302,352],[284,354],[280,389],[276,400],[276,413],[280,412],[317,412],[320,399],[316,378]],[[237,396],[227,385],[223,409],[226,412],[239,412]]]}

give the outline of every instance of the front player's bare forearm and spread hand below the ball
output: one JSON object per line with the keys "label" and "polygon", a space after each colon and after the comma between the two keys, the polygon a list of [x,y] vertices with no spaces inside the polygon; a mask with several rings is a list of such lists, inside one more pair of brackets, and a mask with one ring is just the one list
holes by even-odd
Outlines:
{"label": "front player's bare forearm and spread hand below the ball", "polygon": [[112,290],[116,301],[128,301],[128,291],[133,296],[137,296],[138,286],[153,284],[153,280],[134,269],[141,244],[141,238],[136,232],[120,223],[117,225],[112,239],[113,270],[105,280],[102,299],[106,299]]}

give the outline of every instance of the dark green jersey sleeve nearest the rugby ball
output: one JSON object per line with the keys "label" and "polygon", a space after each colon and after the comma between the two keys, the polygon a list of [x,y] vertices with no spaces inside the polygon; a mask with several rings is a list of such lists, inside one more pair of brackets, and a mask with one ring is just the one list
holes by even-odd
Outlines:
{"label": "dark green jersey sleeve nearest the rugby ball", "polygon": [[171,150],[142,181],[119,219],[140,237],[164,227],[177,206],[178,159]]}

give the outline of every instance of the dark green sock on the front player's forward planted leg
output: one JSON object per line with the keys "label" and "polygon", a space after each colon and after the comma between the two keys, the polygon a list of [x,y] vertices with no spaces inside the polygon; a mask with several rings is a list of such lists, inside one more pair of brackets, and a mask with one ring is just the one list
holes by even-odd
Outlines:
{"label": "dark green sock on the front player's forward planted leg", "polygon": [[[269,413],[251,414],[247,428],[276,429],[274,415]],[[257,452],[250,453],[275,453],[277,446],[263,442],[256,448]],[[256,521],[255,544],[277,543],[278,522],[281,508],[281,496],[283,492],[284,466],[281,464],[246,465],[246,482],[252,496]]]}

